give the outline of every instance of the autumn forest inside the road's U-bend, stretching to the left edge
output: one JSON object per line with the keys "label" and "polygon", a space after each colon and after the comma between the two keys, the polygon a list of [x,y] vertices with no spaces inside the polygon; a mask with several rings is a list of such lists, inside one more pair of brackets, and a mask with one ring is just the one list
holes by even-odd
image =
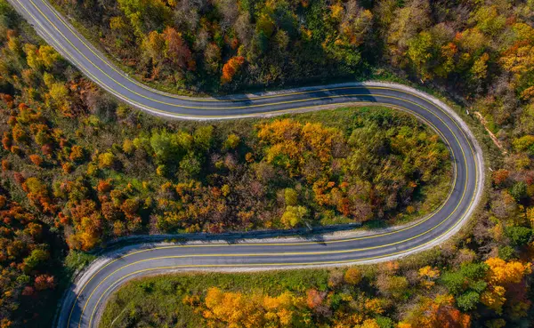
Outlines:
{"label": "autumn forest inside the road's U-bend, stretching to the left edge", "polygon": [[50,320],[44,302],[85,252],[121,236],[389,226],[448,195],[449,150],[411,116],[158,119],[102,92],[0,4],[3,327]]}

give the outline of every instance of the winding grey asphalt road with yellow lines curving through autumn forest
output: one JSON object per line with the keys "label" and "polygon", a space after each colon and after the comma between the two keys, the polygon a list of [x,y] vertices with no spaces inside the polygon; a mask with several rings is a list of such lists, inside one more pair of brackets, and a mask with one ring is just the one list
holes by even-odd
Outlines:
{"label": "winding grey asphalt road with yellow lines curving through autumn forest", "polygon": [[184,269],[301,268],[391,260],[429,249],[457,232],[481,197],[481,149],[457,114],[432,96],[400,84],[350,83],[222,98],[190,98],[158,92],[128,77],[72,28],[45,0],[9,0],[39,35],[102,88],[136,108],[187,119],[267,116],[346,103],[376,103],[417,116],[449,147],[454,175],[449,196],[433,214],[403,227],[320,241],[299,238],[137,244],[95,261],[67,292],[60,328],[98,325],[112,292],[134,277]]}

